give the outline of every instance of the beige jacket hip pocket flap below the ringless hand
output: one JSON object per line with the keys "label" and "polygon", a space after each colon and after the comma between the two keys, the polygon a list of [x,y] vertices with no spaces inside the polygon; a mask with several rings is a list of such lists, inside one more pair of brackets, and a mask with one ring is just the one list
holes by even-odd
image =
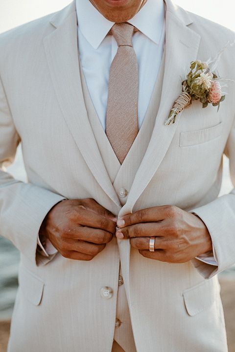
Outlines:
{"label": "beige jacket hip pocket flap below the ringless hand", "polygon": [[19,272],[19,287],[26,299],[35,306],[41,303],[44,286],[45,284],[40,278],[25,267],[21,268]]}

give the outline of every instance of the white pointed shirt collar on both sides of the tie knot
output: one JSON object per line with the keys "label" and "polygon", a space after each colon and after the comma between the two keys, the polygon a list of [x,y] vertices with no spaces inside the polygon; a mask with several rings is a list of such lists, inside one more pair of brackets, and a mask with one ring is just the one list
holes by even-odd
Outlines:
{"label": "white pointed shirt collar on both sides of the tie knot", "polygon": [[[80,31],[94,49],[97,49],[115,22],[108,21],[89,0],[76,0],[76,12]],[[164,0],[147,0],[128,22],[159,44],[164,25]]]}

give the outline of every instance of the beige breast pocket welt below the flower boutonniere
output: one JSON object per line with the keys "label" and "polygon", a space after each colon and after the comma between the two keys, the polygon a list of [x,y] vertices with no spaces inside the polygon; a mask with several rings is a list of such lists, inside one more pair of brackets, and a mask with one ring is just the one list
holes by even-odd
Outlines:
{"label": "beige breast pocket welt below the flower boutonniere", "polygon": [[222,131],[223,122],[203,130],[181,132],[180,147],[189,147],[209,142],[215,138],[218,138],[222,134]]}

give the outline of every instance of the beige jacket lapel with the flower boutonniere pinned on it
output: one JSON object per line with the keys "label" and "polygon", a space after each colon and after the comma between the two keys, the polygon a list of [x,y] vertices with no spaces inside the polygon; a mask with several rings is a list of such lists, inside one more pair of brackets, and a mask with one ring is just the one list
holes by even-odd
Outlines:
{"label": "beige jacket lapel with the flower boutonniere pinned on it", "polygon": [[[135,202],[164,159],[181,114],[173,125],[165,126],[164,121],[181,93],[181,82],[188,73],[189,63],[197,58],[200,36],[179,18],[170,0],[166,1],[166,6],[165,68],[160,107],[147,151],[135,176],[127,203],[119,216],[132,212]],[[185,17],[188,16],[185,11],[181,11]],[[187,20],[190,23],[189,18]]]}

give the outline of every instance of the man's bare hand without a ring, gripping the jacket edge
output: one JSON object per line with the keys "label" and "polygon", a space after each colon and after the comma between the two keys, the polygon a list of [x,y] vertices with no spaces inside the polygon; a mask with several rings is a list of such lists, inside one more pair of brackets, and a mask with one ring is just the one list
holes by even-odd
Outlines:
{"label": "man's bare hand without a ring, gripping the jacket edge", "polygon": [[94,199],[63,200],[48,212],[39,234],[63,257],[89,261],[112,240],[116,221]]}

